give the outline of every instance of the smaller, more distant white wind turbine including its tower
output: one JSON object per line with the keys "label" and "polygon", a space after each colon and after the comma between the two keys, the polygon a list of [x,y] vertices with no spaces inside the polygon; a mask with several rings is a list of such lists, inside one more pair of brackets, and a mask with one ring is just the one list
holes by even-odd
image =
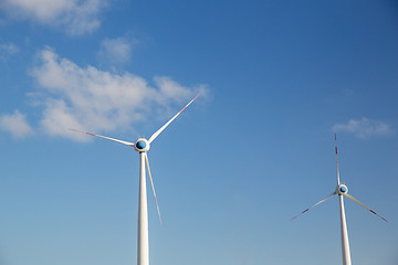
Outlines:
{"label": "smaller, more distant white wind turbine including its tower", "polygon": [[336,171],[337,171],[337,187],[336,190],[329,194],[328,197],[326,197],[325,199],[321,200],[320,202],[315,203],[314,205],[312,205],[311,208],[305,209],[303,212],[301,212],[300,214],[297,214],[296,216],[292,218],[296,219],[298,215],[307,212],[310,209],[321,204],[324,201],[327,201],[328,199],[331,199],[332,197],[338,194],[338,199],[339,199],[339,210],[341,210],[341,227],[342,227],[342,253],[343,253],[343,265],[352,265],[352,261],[350,261],[350,252],[349,252],[349,242],[348,242],[348,231],[347,231],[347,222],[346,222],[346,218],[345,218],[345,210],[344,210],[344,200],[343,198],[346,197],[349,200],[358,203],[359,205],[362,205],[363,208],[367,209],[368,211],[370,211],[373,214],[376,214],[377,216],[379,216],[380,219],[383,219],[384,221],[388,222],[386,219],[381,218],[380,215],[378,215],[375,211],[370,210],[369,208],[365,206],[362,202],[359,202],[357,199],[355,199],[354,197],[348,194],[348,188],[347,186],[345,186],[344,183],[341,182],[339,180],[339,171],[338,171],[338,159],[337,159],[337,139],[336,139],[336,134],[335,134],[335,150],[336,150]]}

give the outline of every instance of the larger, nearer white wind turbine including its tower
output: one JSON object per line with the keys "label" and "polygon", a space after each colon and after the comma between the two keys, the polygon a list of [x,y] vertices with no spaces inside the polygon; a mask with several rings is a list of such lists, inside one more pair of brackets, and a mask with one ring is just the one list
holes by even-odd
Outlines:
{"label": "larger, nearer white wind turbine including its tower", "polygon": [[71,129],[73,131],[104,138],[104,139],[116,141],[116,142],[119,142],[119,144],[123,144],[123,145],[126,145],[129,147],[134,147],[134,149],[137,152],[139,152],[140,166],[139,166],[139,201],[138,201],[138,234],[137,234],[137,237],[138,237],[138,240],[137,240],[138,241],[137,242],[138,243],[137,264],[138,265],[149,265],[148,205],[147,205],[145,166],[148,170],[150,184],[151,184],[151,188],[154,191],[156,208],[157,208],[157,212],[158,212],[160,224],[161,224],[160,211],[159,211],[159,205],[158,205],[158,202],[156,199],[154,182],[153,182],[151,174],[150,174],[147,151],[150,148],[150,142],[153,142],[156,139],[156,137],[158,137],[160,135],[160,132],[164,131],[164,129],[166,129],[166,127],[169,126],[171,124],[171,121],[175,120],[175,118],[177,118],[178,115],[180,115],[180,113],[182,113],[184,109],[186,109],[195,99],[197,99],[197,97],[199,95],[200,95],[200,93],[192,100],[190,100],[181,110],[179,110],[169,121],[167,121],[164,126],[161,126],[160,129],[158,129],[153,136],[150,136],[148,140],[145,139],[144,137],[142,137],[142,138],[138,138],[135,142],[130,142],[130,141],[114,139],[114,138],[106,137],[106,136],[94,135],[91,132]]}

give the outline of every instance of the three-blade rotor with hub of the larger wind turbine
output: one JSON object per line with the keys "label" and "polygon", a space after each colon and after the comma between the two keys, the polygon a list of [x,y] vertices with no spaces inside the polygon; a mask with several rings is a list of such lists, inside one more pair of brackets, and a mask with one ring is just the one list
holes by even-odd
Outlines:
{"label": "three-blade rotor with hub of the larger wind turbine", "polygon": [[111,137],[106,137],[106,136],[95,135],[95,134],[91,134],[91,132],[86,132],[86,131],[82,131],[82,130],[77,130],[77,129],[71,129],[71,130],[76,131],[76,132],[81,132],[81,134],[85,134],[85,135],[90,135],[90,136],[95,136],[95,137],[100,137],[100,138],[103,138],[103,139],[116,141],[116,142],[119,142],[119,144],[123,144],[123,145],[126,145],[126,146],[129,146],[129,147],[134,147],[135,150],[145,153],[145,165],[146,165],[146,168],[148,170],[148,176],[149,176],[151,189],[153,189],[153,192],[154,192],[156,208],[157,208],[157,212],[158,212],[158,215],[159,215],[160,224],[163,224],[163,222],[161,222],[159,205],[158,205],[157,198],[156,198],[155,186],[154,186],[154,181],[153,181],[151,173],[150,173],[149,159],[148,159],[148,155],[147,155],[147,151],[149,150],[149,144],[153,142],[156,139],[156,137],[158,137],[161,134],[161,131],[164,131],[172,123],[172,120],[175,120],[184,112],[184,109],[186,109],[195,99],[197,99],[197,97],[199,95],[200,95],[200,93],[196,97],[193,97],[193,99],[190,100],[172,118],[170,118],[164,126],[161,126],[160,129],[155,131],[155,134],[151,135],[148,140],[146,140],[145,138],[140,138],[134,144],[134,142],[130,142],[130,141],[125,141],[125,140],[119,140],[119,139],[115,139],[115,138],[111,138]]}

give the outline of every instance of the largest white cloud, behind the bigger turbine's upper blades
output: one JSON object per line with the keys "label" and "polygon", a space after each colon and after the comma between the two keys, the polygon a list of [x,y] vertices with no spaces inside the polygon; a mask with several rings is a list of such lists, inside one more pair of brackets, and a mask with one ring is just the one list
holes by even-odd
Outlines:
{"label": "largest white cloud, behind the bigger turbine's upper blades", "polygon": [[128,129],[148,115],[168,110],[174,103],[188,100],[205,86],[184,87],[169,77],[156,77],[153,87],[143,77],[81,67],[60,57],[50,47],[39,54],[40,62],[31,71],[39,84],[35,95],[44,110],[40,120],[52,136],[81,140],[69,128],[91,131]]}

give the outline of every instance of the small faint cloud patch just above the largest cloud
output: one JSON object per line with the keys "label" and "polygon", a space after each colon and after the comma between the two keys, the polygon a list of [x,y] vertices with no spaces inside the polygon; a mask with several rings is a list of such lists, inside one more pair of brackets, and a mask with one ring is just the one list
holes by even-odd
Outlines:
{"label": "small faint cloud patch just above the largest cloud", "polygon": [[100,57],[111,64],[123,64],[132,57],[132,38],[105,39],[101,42]]}

